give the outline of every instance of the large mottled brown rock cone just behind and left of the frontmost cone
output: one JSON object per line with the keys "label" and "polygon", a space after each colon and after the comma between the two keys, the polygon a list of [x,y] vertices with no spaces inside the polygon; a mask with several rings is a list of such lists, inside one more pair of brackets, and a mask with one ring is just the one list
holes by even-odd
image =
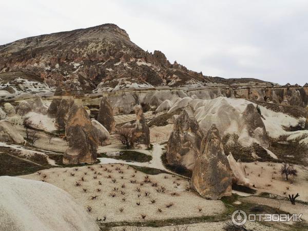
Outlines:
{"label": "large mottled brown rock cone just behind and left of the frontmost cone", "polygon": [[175,121],[167,143],[167,161],[194,169],[203,133],[190,107],[183,109]]}

